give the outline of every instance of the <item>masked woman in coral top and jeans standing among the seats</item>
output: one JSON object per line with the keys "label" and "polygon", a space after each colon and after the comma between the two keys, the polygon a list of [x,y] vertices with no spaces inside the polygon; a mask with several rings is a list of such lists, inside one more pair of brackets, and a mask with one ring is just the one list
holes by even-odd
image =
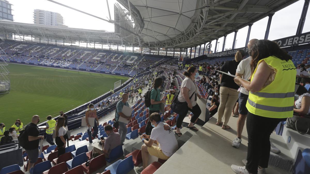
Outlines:
{"label": "masked woman in coral top and jeans standing among the seats", "polygon": [[[91,139],[91,137],[96,138],[96,135],[98,133],[99,120],[97,117],[97,111],[94,108],[94,104],[90,103],[87,108],[88,108],[88,110],[85,113],[86,127],[87,127],[87,133],[88,133],[88,141],[89,141],[89,144],[91,144],[91,143],[93,143],[93,140]],[[88,123],[88,117],[95,118],[95,124],[93,127],[93,129],[94,129],[93,134],[91,134],[91,125]]]}

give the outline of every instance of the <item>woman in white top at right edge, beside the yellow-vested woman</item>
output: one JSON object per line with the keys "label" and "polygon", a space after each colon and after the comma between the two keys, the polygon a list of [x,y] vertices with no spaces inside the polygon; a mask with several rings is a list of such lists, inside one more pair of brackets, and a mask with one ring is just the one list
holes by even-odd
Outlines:
{"label": "woman in white top at right edge, beside the yellow-vested woman", "polygon": [[299,95],[298,100],[295,101],[294,105],[296,108],[294,108],[294,112],[297,112],[299,114],[310,114],[310,94],[309,91],[303,87],[302,85],[296,83],[296,85],[299,85],[296,94]]}

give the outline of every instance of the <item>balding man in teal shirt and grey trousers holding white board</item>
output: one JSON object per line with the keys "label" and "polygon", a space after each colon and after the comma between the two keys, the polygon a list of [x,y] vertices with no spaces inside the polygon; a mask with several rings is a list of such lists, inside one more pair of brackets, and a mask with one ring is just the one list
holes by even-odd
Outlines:
{"label": "balding man in teal shirt and grey trousers holding white board", "polygon": [[[116,112],[115,112],[115,120],[118,121],[119,117],[124,117],[128,121],[131,119],[131,116],[126,116],[122,113],[122,109],[124,105],[129,107],[129,104],[127,102],[128,100],[128,94],[124,93],[122,94],[122,100],[117,102],[116,104]],[[118,122],[118,133],[121,135],[121,144],[124,144],[126,135],[127,135],[127,128],[126,128],[126,123]]]}

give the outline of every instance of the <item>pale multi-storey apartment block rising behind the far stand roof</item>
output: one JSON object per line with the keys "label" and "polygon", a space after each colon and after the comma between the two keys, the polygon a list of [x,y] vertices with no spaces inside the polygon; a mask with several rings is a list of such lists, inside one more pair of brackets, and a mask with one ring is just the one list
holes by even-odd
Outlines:
{"label": "pale multi-storey apartment block rising behind the far stand roof", "polygon": [[64,19],[59,13],[39,9],[33,11],[33,23],[47,26],[68,27],[64,25]]}

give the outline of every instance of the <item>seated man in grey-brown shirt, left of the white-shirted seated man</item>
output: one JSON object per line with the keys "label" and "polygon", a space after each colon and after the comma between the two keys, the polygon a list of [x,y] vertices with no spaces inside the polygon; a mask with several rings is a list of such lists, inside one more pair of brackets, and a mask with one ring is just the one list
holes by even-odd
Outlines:
{"label": "seated man in grey-brown shirt, left of the white-shirted seated man", "polygon": [[104,126],[104,131],[108,135],[108,137],[106,139],[104,139],[104,137],[101,137],[99,141],[99,144],[102,146],[102,150],[94,147],[93,154],[105,154],[105,157],[108,158],[111,150],[121,145],[121,136],[119,135],[119,133],[113,132],[113,128],[110,124]]}

